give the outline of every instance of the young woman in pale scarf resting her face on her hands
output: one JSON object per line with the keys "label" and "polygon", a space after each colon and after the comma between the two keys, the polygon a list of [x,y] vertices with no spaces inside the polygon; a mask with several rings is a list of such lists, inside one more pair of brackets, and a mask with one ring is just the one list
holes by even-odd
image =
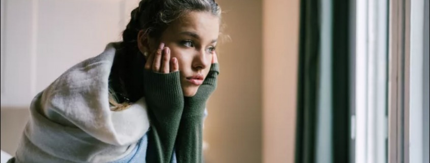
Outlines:
{"label": "young woman in pale scarf resting her face on her hands", "polygon": [[35,97],[9,162],[203,162],[220,12],[213,0],[142,0],[122,42]]}

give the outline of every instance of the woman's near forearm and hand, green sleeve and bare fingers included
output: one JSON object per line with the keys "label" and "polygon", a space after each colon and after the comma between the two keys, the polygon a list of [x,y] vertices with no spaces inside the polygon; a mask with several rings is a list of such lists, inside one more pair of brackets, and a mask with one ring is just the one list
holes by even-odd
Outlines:
{"label": "woman's near forearm and hand, green sleeve and bare fingers included", "polygon": [[178,60],[161,43],[148,56],[144,70],[144,93],[151,120],[147,162],[170,162],[184,108]]}

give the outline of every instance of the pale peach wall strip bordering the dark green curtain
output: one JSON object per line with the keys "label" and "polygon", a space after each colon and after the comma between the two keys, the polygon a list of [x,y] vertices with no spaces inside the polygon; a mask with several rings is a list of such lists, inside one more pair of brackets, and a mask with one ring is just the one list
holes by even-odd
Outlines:
{"label": "pale peach wall strip bordering the dark green curtain", "polygon": [[294,162],[299,0],[263,3],[263,162]]}

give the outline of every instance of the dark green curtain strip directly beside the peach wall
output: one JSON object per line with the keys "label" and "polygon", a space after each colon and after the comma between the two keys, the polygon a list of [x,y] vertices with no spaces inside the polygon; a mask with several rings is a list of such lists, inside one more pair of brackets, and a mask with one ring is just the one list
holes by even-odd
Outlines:
{"label": "dark green curtain strip directly beside the peach wall", "polygon": [[300,2],[296,163],[311,163],[316,159],[320,63],[319,6],[319,0]]}

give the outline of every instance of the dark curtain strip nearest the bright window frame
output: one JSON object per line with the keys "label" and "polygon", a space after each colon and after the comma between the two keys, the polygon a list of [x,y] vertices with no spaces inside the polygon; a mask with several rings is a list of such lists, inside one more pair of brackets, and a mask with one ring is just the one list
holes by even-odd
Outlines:
{"label": "dark curtain strip nearest the bright window frame", "polygon": [[333,1],[332,105],[333,162],[349,162],[350,125],[350,0]]}

